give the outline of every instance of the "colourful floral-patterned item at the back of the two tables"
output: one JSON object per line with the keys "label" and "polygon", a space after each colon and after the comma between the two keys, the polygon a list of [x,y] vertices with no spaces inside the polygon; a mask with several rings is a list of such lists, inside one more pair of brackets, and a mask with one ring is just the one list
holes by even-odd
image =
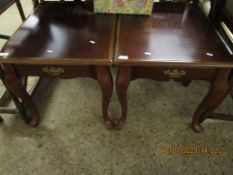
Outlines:
{"label": "colourful floral-patterned item at the back of the two tables", "polygon": [[96,13],[144,14],[152,11],[154,0],[94,0]]}

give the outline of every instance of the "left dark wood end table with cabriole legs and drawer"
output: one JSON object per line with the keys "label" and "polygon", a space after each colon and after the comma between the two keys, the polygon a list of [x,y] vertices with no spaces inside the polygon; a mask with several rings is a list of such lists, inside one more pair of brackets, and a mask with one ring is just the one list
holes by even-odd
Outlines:
{"label": "left dark wood end table with cabriole legs and drawer", "polygon": [[0,63],[4,83],[30,111],[30,125],[39,123],[39,112],[21,83],[29,75],[97,80],[103,93],[104,123],[113,127],[107,109],[113,90],[109,65],[115,23],[114,15],[93,14],[75,2],[54,2],[39,4],[20,26],[2,50],[6,55]]}

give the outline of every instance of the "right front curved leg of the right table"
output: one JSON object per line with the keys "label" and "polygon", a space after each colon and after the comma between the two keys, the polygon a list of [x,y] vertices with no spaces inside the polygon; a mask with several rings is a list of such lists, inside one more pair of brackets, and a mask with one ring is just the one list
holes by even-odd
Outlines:
{"label": "right front curved leg of the right table", "polygon": [[193,120],[192,127],[195,132],[202,132],[201,123],[210,115],[229,94],[232,88],[231,69],[220,69],[216,73],[209,93],[197,108]]}

